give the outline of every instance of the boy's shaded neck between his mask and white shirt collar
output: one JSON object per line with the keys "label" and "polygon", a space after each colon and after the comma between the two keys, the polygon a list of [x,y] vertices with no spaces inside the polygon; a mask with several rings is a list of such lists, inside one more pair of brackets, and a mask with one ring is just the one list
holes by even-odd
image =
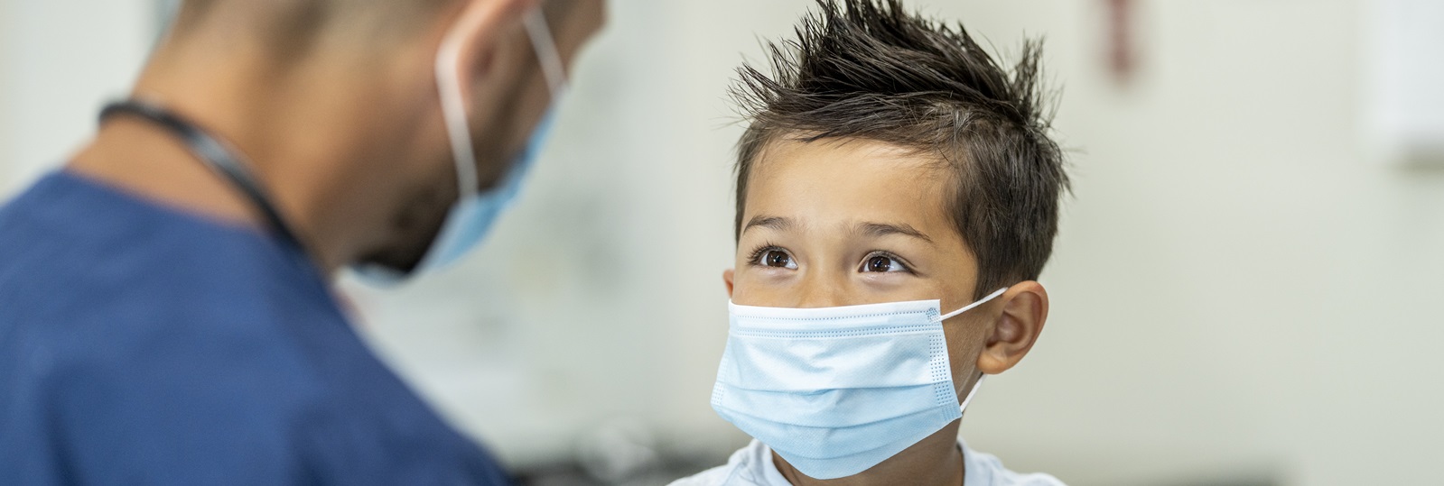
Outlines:
{"label": "boy's shaded neck between his mask and white shirt collar", "polygon": [[775,451],[773,453],[773,464],[793,486],[957,486],[963,485],[963,451],[957,449],[957,425],[959,421],[953,421],[897,456],[848,477],[807,477]]}

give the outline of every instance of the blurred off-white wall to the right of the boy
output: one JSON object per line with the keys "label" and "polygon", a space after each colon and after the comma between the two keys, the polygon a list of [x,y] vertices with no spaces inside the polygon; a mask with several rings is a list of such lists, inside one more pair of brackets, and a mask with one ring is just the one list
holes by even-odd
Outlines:
{"label": "blurred off-white wall to the right of the boy", "polygon": [[1444,172],[1359,143],[1365,6],[1144,3],[1131,89],[1087,3],[952,9],[1050,35],[1080,149],[1048,332],[965,436],[1095,485],[1437,482]]}

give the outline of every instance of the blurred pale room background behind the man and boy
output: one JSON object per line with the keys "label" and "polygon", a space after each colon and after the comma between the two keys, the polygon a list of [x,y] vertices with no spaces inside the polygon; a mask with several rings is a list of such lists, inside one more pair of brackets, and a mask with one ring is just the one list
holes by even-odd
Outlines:
{"label": "blurred pale room background behind the man and boy", "polygon": [[[1048,326],[969,407],[969,446],[1082,486],[1440,483],[1444,3],[907,4],[1005,58],[1045,37],[1070,149]],[[342,283],[378,353],[524,483],[664,485],[748,441],[709,407],[726,89],[810,6],[611,1],[485,247],[399,290]],[[170,7],[0,0],[0,199],[92,133]]]}

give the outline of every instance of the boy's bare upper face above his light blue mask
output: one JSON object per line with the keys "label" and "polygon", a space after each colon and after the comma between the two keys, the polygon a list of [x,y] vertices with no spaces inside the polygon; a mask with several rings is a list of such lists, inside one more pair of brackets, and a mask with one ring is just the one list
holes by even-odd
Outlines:
{"label": "boy's bare upper face above his light blue mask", "polygon": [[[949,172],[934,160],[869,140],[780,140],[752,167],[732,301],[836,307],[973,301],[978,262],[943,202]],[[992,303],[989,303],[992,304]],[[943,323],[959,397],[983,346],[985,304]]]}

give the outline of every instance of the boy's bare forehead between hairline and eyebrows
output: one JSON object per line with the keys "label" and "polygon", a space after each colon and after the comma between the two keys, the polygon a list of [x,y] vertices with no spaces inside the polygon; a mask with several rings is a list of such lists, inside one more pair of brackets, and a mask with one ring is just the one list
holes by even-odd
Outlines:
{"label": "boy's bare forehead between hairline and eyebrows", "polygon": [[778,140],[748,174],[748,218],[758,213],[816,224],[904,219],[946,225],[949,174],[937,157],[865,138]]}

